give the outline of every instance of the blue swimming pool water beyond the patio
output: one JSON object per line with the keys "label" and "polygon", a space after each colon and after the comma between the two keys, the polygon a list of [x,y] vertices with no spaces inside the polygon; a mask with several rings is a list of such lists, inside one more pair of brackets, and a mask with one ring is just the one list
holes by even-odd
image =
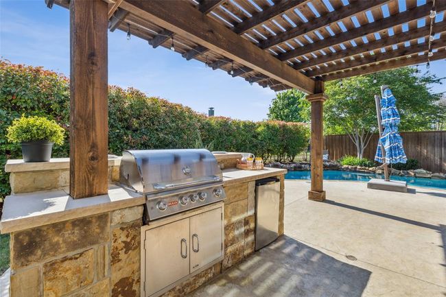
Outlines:
{"label": "blue swimming pool water beyond the patio", "polygon": [[[310,171],[288,171],[285,178],[288,180],[309,180]],[[356,180],[360,182],[368,182],[371,178],[384,178],[379,174],[368,174],[357,171],[324,171],[324,180]],[[408,185],[416,187],[429,187],[436,189],[446,189],[446,180],[432,180],[431,178],[412,178],[403,176],[390,176],[390,180],[403,180],[408,182]]]}

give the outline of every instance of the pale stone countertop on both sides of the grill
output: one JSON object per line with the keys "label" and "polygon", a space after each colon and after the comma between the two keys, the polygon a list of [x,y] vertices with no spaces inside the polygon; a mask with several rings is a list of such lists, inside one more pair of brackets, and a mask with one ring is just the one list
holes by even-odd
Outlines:
{"label": "pale stone countertop on both sides of the grill", "polygon": [[[285,169],[265,168],[263,170],[224,169],[224,185],[258,180],[285,174]],[[117,185],[110,185],[107,195],[73,199],[64,190],[39,191],[9,195],[3,204],[0,222],[1,233],[62,222],[76,217],[86,217],[106,211],[124,209],[144,204],[145,198]]]}

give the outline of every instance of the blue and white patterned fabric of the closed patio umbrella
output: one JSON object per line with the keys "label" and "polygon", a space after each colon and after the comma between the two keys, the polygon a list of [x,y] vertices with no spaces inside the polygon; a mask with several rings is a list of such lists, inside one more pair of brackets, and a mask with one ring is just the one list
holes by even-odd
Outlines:
{"label": "blue and white patterned fabric of the closed patio umbrella", "polygon": [[[390,88],[386,88],[381,99],[381,118],[384,132],[379,138],[375,161],[379,163],[395,164],[406,163],[408,158],[404,153],[403,139],[398,133],[398,125],[401,119]],[[381,145],[384,145],[386,158],[383,159]]]}

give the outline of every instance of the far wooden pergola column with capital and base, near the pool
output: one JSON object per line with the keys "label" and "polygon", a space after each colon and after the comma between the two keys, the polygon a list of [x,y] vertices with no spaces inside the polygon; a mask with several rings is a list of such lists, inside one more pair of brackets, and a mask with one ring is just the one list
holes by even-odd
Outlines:
{"label": "far wooden pergola column with capital and base, near the pool", "polygon": [[316,201],[325,200],[323,187],[324,167],[322,154],[324,150],[323,136],[323,104],[327,97],[324,92],[324,82],[316,81],[315,93],[308,95],[307,100],[312,103],[312,143],[311,143],[311,165],[312,165],[312,187],[308,191],[308,199]]}

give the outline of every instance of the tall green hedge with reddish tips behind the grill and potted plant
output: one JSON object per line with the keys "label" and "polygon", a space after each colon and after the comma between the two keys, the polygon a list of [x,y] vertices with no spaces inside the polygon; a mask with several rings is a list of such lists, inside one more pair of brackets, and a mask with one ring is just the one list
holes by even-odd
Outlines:
{"label": "tall green hedge with reddish tips behind the grill and potted plant", "polygon": [[[55,146],[53,156],[68,156],[68,78],[41,67],[0,60],[0,198],[10,193],[4,172],[6,160],[21,158],[20,145],[5,139],[6,128],[21,115],[56,120],[66,132],[64,145]],[[213,150],[253,152],[271,161],[292,161],[309,139],[309,130],[301,123],[207,117],[186,106],[118,86],[109,87],[108,126],[108,150],[118,155],[127,149],[190,148],[197,143],[213,143]]]}

